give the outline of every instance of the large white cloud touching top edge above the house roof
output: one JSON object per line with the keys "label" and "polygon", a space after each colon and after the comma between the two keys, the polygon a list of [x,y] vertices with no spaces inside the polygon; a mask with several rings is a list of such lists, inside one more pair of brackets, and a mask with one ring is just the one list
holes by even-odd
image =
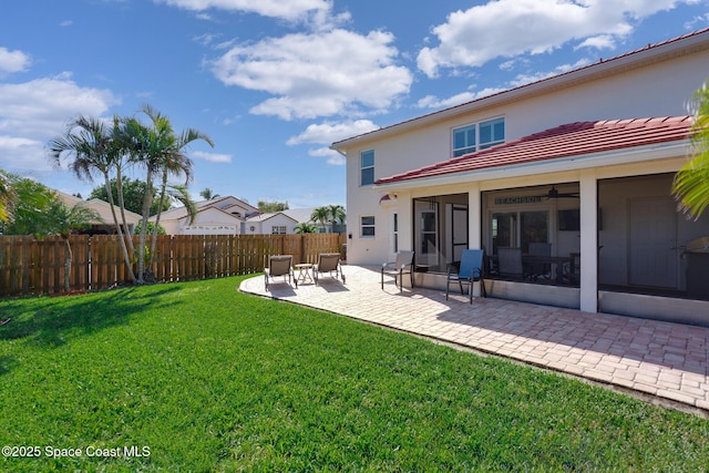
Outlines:
{"label": "large white cloud touching top edge above the house roof", "polygon": [[499,0],[451,13],[433,28],[438,45],[419,52],[418,65],[434,78],[440,69],[480,66],[494,58],[551,52],[580,40],[612,48],[633,23],[678,3],[697,0]]}

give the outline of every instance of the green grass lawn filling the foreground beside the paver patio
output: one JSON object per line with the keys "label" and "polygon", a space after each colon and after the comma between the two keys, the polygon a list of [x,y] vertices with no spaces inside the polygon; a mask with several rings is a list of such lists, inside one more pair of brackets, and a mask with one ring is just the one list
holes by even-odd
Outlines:
{"label": "green grass lawn filling the foreground beside the paver patio", "polygon": [[0,470],[709,470],[708,420],[242,279],[0,302]]}

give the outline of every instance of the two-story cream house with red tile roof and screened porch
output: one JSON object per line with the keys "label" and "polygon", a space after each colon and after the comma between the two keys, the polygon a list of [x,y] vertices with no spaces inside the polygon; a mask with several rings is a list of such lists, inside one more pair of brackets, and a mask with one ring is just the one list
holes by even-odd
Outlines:
{"label": "two-story cream house with red tile roof and screened porch", "polygon": [[[686,251],[709,215],[670,195],[708,76],[701,30],[333,143],[348,263],[413,249],[417,284],[443,287],[462,249],[484,248],[494,297],[709,323],[709,255]],[[546,284],[502,277],[500,249],[531,244],[551,248]]]}

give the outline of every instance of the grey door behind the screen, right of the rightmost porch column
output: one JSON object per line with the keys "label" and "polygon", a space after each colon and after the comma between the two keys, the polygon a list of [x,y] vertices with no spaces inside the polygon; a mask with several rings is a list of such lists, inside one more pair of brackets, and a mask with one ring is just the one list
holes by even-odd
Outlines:
{"label": "grey door behind the screen, right of the rightmost porch column", "polygon": [[670,197],[633,198],[629,203],[629,282],[678,288],[677,212]]}

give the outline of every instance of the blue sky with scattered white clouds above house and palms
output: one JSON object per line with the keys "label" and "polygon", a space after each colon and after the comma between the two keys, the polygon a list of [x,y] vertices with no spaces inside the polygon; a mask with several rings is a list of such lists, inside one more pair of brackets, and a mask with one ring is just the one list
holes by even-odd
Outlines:
{"label": "blue sky with scattered white clouds above house and palms", "polygon": [[332,142],[707,27],[709,0],[2,0],[0,168],[88,197],[49,141],[150,104],[214,141],[195,199],[346,205]]}

